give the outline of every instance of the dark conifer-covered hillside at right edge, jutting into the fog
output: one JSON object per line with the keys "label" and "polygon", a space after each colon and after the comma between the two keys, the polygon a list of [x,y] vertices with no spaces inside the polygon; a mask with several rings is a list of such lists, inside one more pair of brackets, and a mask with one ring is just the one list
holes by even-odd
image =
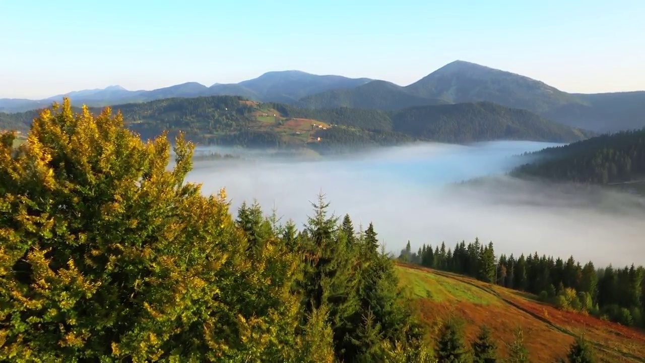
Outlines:
{"label": "dark conifer-covered hillside at right edge, jutting into the fog", "polygon": [[577,183],[642,180],[645,129],[597,136],[530,155],[538,159],[515,169],[513,174]]}

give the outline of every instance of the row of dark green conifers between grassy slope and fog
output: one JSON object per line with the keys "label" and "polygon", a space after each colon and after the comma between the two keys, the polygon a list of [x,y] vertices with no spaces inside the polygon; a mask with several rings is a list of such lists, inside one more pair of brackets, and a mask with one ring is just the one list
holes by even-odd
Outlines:
{"label": "row of dark green conifers between grassy slope and fog", "polygon": [[582,265],[573,256],[566,260],[536,253],[519,258],[495,256],[493,242],[479,239],[454,248],[422,245],[417,252],[410,242],[400,260],[424,267],[471,276],[510,289],[526,291],[560,309],[589,313],[625,326],[645,327],[645,268],[635,265],[597,269],[593,262]]}

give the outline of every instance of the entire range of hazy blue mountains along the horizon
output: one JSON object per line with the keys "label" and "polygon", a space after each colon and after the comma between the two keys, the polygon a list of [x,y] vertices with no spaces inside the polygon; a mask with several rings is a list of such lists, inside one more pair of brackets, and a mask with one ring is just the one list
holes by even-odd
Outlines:
{"label": "entire range of hazy blue mountains along the horizon", "polygon": [[413,106],[488,101],[526,109],[571,127],[596,132],[645,126],[645,91],[570,94],[541,81],[466,61],[454,61],[411,85],[368,78],[318,76],[297,70],[267,72],[240,83],[210,87],[188,82],[155,90],[119,86],[81,90],[47,99],[0,99],[0,112],[47,107],[70,96],[75,105],[140,103],[164,98],[235,95],[254,101],[286,103],[303,109],[400,110]]}

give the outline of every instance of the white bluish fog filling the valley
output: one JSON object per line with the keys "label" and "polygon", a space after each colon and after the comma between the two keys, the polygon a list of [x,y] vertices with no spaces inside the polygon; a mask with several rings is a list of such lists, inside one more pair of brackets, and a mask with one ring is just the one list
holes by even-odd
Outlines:
{"label": "white bluish fog filling the valley", "polygon": [[[372,221],[394,253],[408,240],[416,250],[479,237],[493,241],[498,255],[537,251],[596,265],[645,264],[642,197],[505,175],[526,161],[517,155],[553,145],[424,143],[319,160],[261,158],[266,152],[255,151],[247,160],[196,162],[187,179],[202,183],[204,194],[226,187],[232,213],[255,199],[265,213],[275,207],[283,222],[299,226],[322,191],[330,212],[349,213],[357,228]],[[484,176],[490,178],[459,183]]]}

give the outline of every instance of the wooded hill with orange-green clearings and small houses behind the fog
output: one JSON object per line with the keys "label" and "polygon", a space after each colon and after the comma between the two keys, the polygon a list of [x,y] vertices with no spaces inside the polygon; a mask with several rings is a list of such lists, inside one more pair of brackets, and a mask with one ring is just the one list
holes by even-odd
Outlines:
{"label": "wooded hill with orange-green clearings and small houses behind the fog", "polygon": [[[115,105],[121,110],[129,129],[143,138],[169,130],[184,131],[193,141],[243,147],[308,147],[320,152],[335,149],[397,145],[412,141],[396,132],[352,127],[351,121],[330,125],[330,121],[313,119],[306,112],[283,114],[286,106],[257,103],[237,96],[171,98],[147,103]],[[98,109],[95,110],[99,111]],[[355,116],[353,114],[348,115]]]}

